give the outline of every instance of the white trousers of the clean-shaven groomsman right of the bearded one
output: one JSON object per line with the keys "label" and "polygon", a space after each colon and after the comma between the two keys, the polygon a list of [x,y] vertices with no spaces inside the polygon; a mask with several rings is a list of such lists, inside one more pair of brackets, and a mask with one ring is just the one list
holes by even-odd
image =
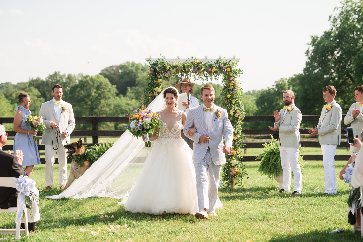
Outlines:
{"label": "white trousers of the clean-shaven groomsman right of the bearded one", "polygon": [[322,144],[323,153],[325,192],[328,194],[337,194],[337,175],[335,174],[335,150],[336,144]]}

